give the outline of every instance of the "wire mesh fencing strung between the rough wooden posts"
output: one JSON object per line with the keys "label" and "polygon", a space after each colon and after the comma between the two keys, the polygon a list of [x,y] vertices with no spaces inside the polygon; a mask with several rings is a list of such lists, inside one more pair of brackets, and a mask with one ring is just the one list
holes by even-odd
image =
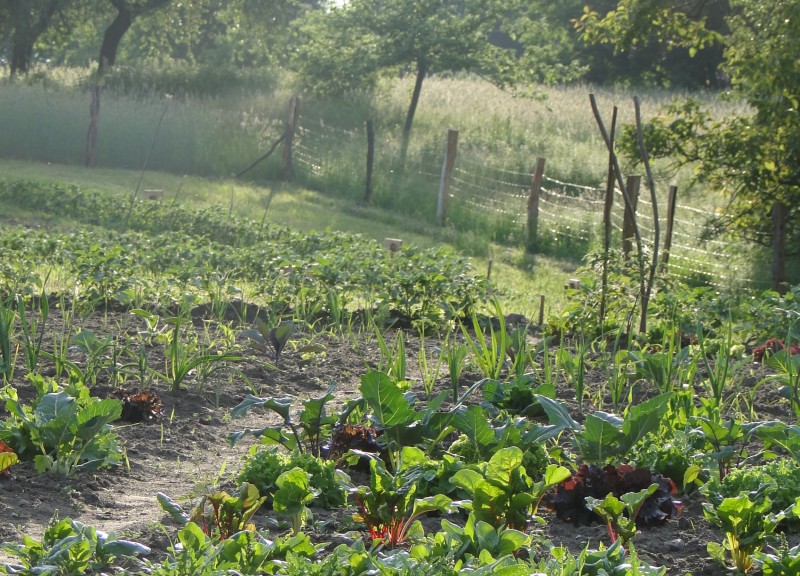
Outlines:
{"label": "wire mesh fencing strung between the rough wooden posts", "polygon": [[[330,170],[341,170],[346,149],[365,149],[363,131],[344,130],[322,122],[304,123],[303,120],[301,117],[295,157],[298,169],[307,180],[322,178]],[[443,146],[409,153],[405,171],[407,176],[414,178],[417,194],[430,195],[434,199],[439,193],[444,157]],[[355,185],[363,181],[363,171],[356,170],[351,177]],[[495,230],[505,230],[501,236],[506,240],[524,238],[532,178],[529,172],[492,165],[467,153],[460,154],[450,177],[448,215],[452,215],[453,220],[466,217],[470,223],[493,222]],[[599,174],[598,182],[604,180],[605,175]],[[657,187],[667,188],[664,183]],[[663,198],[658,200],[657,207],[663,255],[667,201],[665,193],[661,196]],[[586,250],[597,247],[603,235],[604,203],[603,188],[563,182],[545,174],[539,194],[537,235],[544,245]],[[613,246],[616,247],[622,245],[624,212],[622,192],[616,190],[611,212]],[[713,210],[676,203],[666,272],[689,282],[768,288],[771,285],[769,278],[753,277],[748,260],[742,257],[744,247],[741,243],[705,238],[708,223],[715,216]],[[644,190],[638,200],[636,221],[643,247],[652,250],[655,235],[653,204]]]}

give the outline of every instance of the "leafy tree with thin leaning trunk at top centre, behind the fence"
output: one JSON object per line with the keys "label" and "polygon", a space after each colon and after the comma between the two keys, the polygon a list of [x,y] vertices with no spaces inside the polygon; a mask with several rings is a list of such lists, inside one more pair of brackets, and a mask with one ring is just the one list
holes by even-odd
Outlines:
{"label": "leafy tree with thin leaning trunk at top centre, behind the fence", "polygon": [[513,12],[502,0],[351,0],[314,13],[299,28],[307,40],[295,62],[317,92],[369,88],[377,74],[411,73],[414,90],[403,126],[403,148],[425,78],[437,72],[494,73],[513,56],[489,41]]}

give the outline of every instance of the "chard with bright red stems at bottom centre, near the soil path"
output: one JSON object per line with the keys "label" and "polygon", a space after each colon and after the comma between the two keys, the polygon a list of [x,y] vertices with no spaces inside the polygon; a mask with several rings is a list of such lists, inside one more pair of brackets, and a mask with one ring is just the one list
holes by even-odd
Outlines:
{"label": "chard with bright red stems at bottom centre, near the soil path", "polygon": [[416,498],[422,468],[401,462],[394,473],[378,458],[370,459],[369,486],[352,490],[359,507],[357,520],[364,522],[373,540],[394,547],[422,535],[418,518],[430,512],[451,512],[452,500],[443,494]]}

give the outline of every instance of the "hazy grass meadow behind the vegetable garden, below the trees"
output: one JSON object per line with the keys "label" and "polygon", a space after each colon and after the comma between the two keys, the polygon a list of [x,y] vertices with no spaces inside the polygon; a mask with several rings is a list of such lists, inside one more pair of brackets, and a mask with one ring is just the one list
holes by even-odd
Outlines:
{"label": "hazy grass meadow behind the vegetable garden, below the trees", "polygon": [[[84,140],[89,94],[80,72],[50,75],[48,82],[0,83],[0,176],[75,183],[118,193],[162,189],[168,201],[221,209],[300,230],[347,230],[382,239],[399,237],[421,246],[450,244],[488,272],[510,309],[538,315],[539,295],[548,314],[563,305],[563,285],[581,264],[587,244],[550,242],[527,255],[522,226],[475,212],[453,213],[436,225],[436,189],[448,129],[459,130],[459,162],[529,173],[537,156],[548,176],[599,186],[607,153],[589,104],[596,93],[605,121],[618,106],[632,122],[633,91],[591,86],[539,88],[530,94],[500,90],[474,78],[426,81],[405,166],[399,164],[400,132],[412,78],[386,81],[374,95],[313,100],[301,97],[296,139],[296,179],[282,181],[279,147],[243,178],[232,175],[261,156],[283,131],[291,97],[287,82],[259,88],[220,87],[216,95],[190,97],[170,86],[125,93],[113,81],[103,93],[97,167],[87,169]],[[56,80],[53,80],[56,78]],[[113,80],[113,79],[112,79]],[[140,84],[152,79],[144,77]],[[157,85],[152,82],[150,85]],[[170,97],[169,93],[176,93]],[[127,95],[126,95],[127,94]],[[638,94],[645,118],[680,94]],[[712,95],[715,114],[735,111]],[[163,116],[163,119],[162,119]],[[366,137],[376,132],[372,203],[363,202]],[[658,166],[656,166],[658,170]],[[689,174],[659,174],[659,188],[676,181],[684,203],[707,206],[711,195],[693,190]],[[717,200],[719,201],[719,200]],[[559,247],[560,246],[560,247]]]}

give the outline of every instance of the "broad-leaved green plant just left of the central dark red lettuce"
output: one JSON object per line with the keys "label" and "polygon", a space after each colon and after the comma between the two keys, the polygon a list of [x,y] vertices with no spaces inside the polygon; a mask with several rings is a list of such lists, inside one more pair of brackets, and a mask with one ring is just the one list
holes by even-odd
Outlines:
{"label": "broad-leaved green plant just left of the central dark red lettuce", "polygon": [[[327,392],[319,398],[310,398],[302,402],[303,410],[299,419],[292,418],[291,398],[258,398],[248,394],[244,400],[231,410],[231,418],[239,418],[247,414],[251,408],[264,407],[272,410],[283,418],[278,426],[267,426],[260,430],[242,430],[228,435],[231,445],[236,444],[245,434],[253,434],[261,439],[263,444],[279,444],[291,452],[309,452],[320,456],[323,441],[330,437],[331,426],[336,422],[336,417],[328,414],[327,404],[333,399],[332,384]],[[288,429],[287,436],[284,430]]]}

